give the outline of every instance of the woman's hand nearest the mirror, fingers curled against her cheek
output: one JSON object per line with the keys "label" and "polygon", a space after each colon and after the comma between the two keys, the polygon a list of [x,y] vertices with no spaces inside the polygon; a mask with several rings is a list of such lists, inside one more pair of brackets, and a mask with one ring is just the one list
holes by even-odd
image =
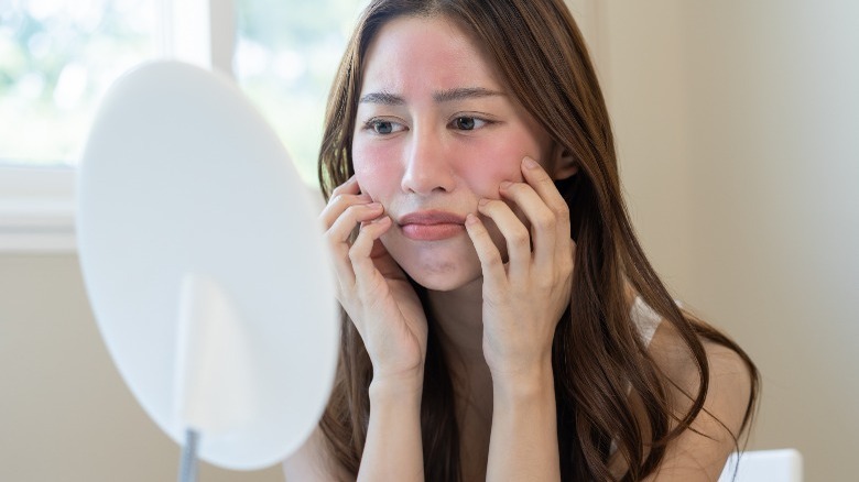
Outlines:
{"label": "woman's hand nearest the mirror, fingers curled against her cheek", "polygon": [[[423,383],[426,315],[405,273],[380,237],[393,220],[379,202],[361,194],[352,176],[331,193],[320,215],[334,256],[337,299],[363,340],[373,382]],[[350,237],[358,227],[358,235]]]}

